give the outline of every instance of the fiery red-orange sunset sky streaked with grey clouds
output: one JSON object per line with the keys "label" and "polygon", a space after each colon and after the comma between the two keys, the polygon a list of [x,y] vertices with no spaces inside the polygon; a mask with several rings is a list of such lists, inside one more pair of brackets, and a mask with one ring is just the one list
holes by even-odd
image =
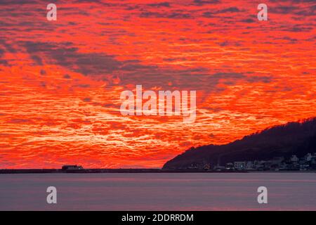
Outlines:
{"label": "fiery red-orange sunset sky streaked with grey clouds", "polygon": [[[315,5],[0,0],[0,168],[162,167],[192,146],[316,116]],[[196,90],[195,123],[122,116],[121,91],[136,84]]]}

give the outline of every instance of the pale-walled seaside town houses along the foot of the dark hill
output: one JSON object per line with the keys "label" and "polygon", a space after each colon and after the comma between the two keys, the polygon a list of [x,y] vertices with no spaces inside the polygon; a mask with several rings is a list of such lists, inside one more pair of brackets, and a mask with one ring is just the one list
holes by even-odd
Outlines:
{"label": "pale-walled seaside town houses along the foot of the dark hill", "polygon": [[316,153],[308,153],[302,158],[275,157],[271,160],[228,162],[225,166],[209,164],[191,165],[187,169],[206,169],[210,171],[310,171],[316,170]]}

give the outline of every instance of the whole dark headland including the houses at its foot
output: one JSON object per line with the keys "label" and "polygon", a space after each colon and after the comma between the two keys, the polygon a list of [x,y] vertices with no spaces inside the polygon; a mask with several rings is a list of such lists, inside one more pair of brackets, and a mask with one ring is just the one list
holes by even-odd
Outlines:
{"label": "whole dark headland including the houses at its foot", "polygon": [[163,169],[315,171],[316,117],[270,127],[225,145],[190,148]]}

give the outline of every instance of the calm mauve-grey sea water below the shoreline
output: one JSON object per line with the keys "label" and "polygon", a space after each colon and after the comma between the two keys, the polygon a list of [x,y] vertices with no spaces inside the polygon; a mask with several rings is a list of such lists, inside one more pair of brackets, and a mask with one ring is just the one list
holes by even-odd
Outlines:
{"label": "calm mauve-grey sea water below the shoreline", "polygon": [[0,210],[316,210],[316,173],[0,174]]}

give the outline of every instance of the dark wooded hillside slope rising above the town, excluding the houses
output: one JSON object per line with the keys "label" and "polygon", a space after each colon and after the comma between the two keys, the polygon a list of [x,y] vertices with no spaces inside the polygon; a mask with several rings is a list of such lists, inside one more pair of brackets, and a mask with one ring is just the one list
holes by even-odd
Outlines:
{"label": "dark wooded hillside slope rising above the town, excluding the houses", "polygon": [[227,162],[269,160],[273,157],[302,157],[316,152],[316,117],[271,127],[226,145],[190,148],[166,162],[164,169],[187,168],[190,165],[225,165]]}

